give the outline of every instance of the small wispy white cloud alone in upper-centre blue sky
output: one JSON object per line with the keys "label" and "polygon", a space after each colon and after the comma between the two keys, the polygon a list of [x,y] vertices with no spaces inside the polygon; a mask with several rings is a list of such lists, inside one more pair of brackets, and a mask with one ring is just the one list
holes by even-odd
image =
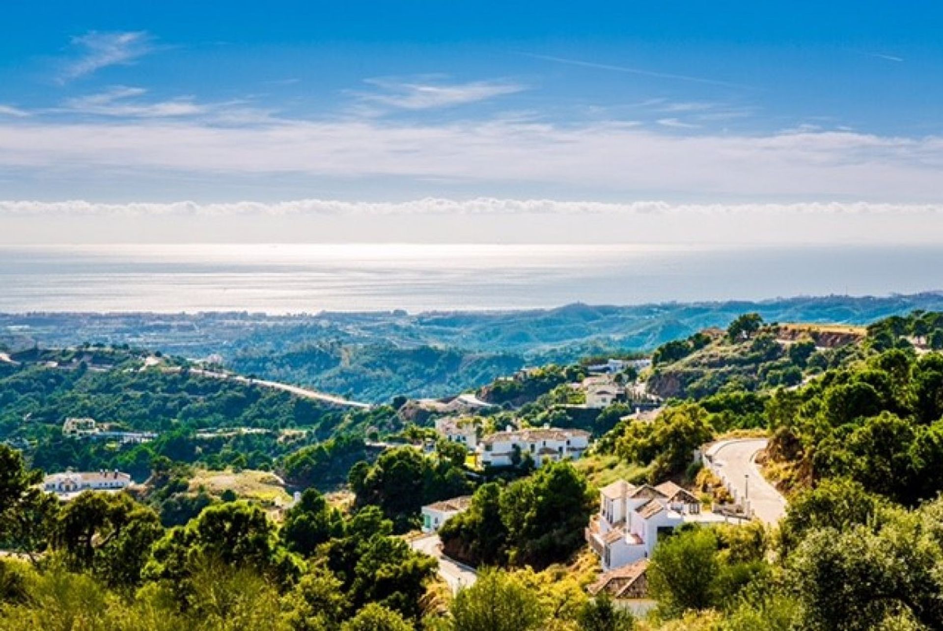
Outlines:
{"label": "small wispy white cloud alone in upper-centre blue sky", "polygon": [[402,109],[451,108],[526,89],[525,86],[506,81],[447,84],[381,77],[367,79],[366,83],[378,91],[355,92],[358,98],[370,103]]}

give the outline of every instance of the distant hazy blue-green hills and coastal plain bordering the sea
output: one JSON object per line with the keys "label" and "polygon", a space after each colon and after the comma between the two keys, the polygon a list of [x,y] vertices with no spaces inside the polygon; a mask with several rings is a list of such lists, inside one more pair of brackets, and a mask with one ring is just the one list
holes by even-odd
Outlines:
{"label": "distant hazy blue-green hills and coastal plain bordering the sea", "polygon": [[477,388],[522,365],[652,351],[746,312],[767,322],[869,324],[915,309],[943,309],[943,295],[419,314],[0,314],[0,350],[101,342],[218,356],[243,374],[378,403]]}

